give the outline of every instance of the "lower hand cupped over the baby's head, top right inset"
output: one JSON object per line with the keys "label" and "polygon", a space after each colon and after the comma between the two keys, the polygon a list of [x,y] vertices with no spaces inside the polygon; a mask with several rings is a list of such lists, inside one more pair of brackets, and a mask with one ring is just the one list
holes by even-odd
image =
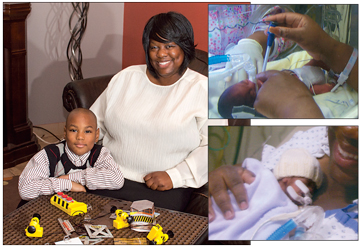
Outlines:
{"label": "lower hand cupped over the baby's head, top right inset", "polygon": [[254,108],[268,118],[324,118],[310,90],[297,77],[269,70],[256,78],[263,82]]}

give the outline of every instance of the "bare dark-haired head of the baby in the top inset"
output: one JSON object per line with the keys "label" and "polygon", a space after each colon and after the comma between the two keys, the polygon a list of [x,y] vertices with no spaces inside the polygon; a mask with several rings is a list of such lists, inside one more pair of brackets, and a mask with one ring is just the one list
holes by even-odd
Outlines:
{"label": "bare dark-haired head of the baby in the top inset", "polygon": [[[258,81],[259,88],[261,82]],[[232,108],[234,106],[246,105],[254,106],[256,99],[255,83],[245,79],[239,83],[228,87],[220,96],[218,102],[218,111],[223,118],[232,118]]]}

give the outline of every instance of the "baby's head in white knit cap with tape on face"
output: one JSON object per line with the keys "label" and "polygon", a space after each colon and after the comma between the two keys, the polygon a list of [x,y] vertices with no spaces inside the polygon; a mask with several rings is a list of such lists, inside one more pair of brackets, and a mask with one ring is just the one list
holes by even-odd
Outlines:
{"label": "baby's head in white knit cap with tape on face", "polygon": [[286,150],[273,173],[281,189],[297,205],[311,204],[311,195],[323,179],[319,161],[303,148]]}

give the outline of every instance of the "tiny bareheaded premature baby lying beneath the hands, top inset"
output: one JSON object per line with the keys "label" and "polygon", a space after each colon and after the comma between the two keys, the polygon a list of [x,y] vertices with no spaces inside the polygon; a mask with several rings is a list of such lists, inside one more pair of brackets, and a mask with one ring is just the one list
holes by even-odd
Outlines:
{"label": "tiny bareheaded premature baby lying beneath the hands, top inset", "polygon": [[[299,78],[315,95],[330,92],[335,86],[333,83],[329,84],[329,82],[335,81],[332,78],[327,79],[323,70],[317,66],[305,65],[302,68],[284,71]],[[253,107],[256,99],[255,83],[257,83],[259,89],[263,84],[260,80],[252,82],[245,79],[228,87],[219,98],[218,111],[220,115],[223,118],[230,119],[233,118],[232,110],[234,106],[246,105]]]}

